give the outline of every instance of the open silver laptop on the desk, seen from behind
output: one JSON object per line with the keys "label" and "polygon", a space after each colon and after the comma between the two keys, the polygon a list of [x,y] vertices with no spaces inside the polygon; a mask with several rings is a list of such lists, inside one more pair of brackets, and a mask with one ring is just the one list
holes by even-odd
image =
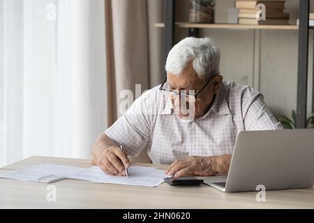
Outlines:
{"label": "open silver laptop on the desk, seen from behind", "polygon": [[314,129],[240,132],[228,175],[204,183],[223,192],[313,187]]}

